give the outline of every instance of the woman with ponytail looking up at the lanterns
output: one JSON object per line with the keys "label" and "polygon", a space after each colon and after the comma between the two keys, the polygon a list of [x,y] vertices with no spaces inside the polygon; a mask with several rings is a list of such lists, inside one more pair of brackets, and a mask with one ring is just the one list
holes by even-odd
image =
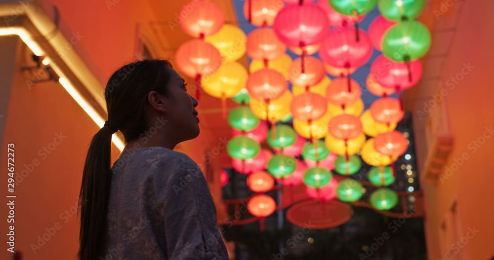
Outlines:
{"label": "woman with ponytail looking up at the lanterns", "polygon": [[[165,60],[108,80],[108,121],[91,141],[80,192],[80,260],[228,259],[201,169],[173,151],[199,135],[197,100]],[[111,164],[111,138],[125,148]]]}

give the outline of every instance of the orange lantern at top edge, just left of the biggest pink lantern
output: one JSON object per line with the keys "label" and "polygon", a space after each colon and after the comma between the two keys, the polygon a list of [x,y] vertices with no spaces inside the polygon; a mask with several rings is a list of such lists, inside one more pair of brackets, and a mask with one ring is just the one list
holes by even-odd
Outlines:
{"label": "orange lantern at top edge, just left of the biggest pink lantern", "polygon": [[278,4],[278,0],[246,0],[244,16],[255,26],[271,26],[282,7],[283,5]]}

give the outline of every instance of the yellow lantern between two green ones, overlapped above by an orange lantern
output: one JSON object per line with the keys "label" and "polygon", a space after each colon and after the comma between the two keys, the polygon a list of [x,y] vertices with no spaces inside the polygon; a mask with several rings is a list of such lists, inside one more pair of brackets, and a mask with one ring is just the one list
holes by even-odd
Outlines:
{"label": "yellow lantern between two green ones, overlapped above by an orange lantern", "polygon": [[262,120],[266,120],[267,111],[269,121],[275,122],[280,121],[290,112],[290,103],[292,99],[293,97],[291,92],[287,90],[281,95],[281,97],[270,101],[269,104],[252,98],[250,99],[249,107],[250,111]]}

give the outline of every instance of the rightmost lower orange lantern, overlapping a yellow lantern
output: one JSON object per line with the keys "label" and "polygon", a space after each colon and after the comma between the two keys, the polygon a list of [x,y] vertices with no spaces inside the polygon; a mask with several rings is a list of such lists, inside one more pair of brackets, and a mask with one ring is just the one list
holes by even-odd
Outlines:
{"label": "rightmost lower orange lantern, overlapping a yellow lantern", "polygon": [[399,131],[379,134],[374,138],[374,149],[384,155],[399,157],[408,149],[408,140]]}

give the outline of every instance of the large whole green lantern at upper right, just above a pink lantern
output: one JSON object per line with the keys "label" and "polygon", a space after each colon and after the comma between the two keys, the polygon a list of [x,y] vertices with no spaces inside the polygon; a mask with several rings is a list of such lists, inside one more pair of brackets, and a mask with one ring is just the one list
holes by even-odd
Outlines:
{"label": "large whole green lantern at upper right, just above a pink lantern", "polygon": [[411,61],[424,56],[431,46],[429,30],[417,21],[391,27],[382,40],[382,52],[394,61]]}

